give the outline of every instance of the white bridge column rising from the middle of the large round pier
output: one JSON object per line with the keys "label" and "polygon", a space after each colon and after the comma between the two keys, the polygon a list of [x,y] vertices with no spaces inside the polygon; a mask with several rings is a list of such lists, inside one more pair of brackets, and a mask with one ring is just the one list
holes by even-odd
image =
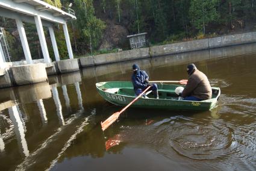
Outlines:
{"label": "white bridge column rising from the middle of the large round pier", "polygon": [[23,23],[21,20],[16,19],[16,25],[17,25],[17,29],[19,31],[19,37],[20,37],[20,41],[22,44],[24,54],[25,54],[26,61],[28,64],[33,64],[31,54],[30,54],[30,47],[28,46],[28,40],[27,40],[27,36],[25,33]]}

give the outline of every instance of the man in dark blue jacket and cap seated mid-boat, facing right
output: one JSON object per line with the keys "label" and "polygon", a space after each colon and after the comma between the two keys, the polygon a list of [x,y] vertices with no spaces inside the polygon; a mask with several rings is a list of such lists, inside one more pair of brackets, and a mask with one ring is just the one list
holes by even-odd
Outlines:
{"label": "man in dark blue jacket and cap seated mid-boat, facing right", "polygon": [[[133,64],[133,75],[131,76],[131,81],[133,82],[134,92],[137,96],[139,96],[146,87],[151,86],[149,90],[152,90],[154,98],[158,99],[157,84],[149,83],[148,74],[144,70],[140,70],[140,67],[137,64]],[[146,95],[143,95],[143,97],[146,97]]]}

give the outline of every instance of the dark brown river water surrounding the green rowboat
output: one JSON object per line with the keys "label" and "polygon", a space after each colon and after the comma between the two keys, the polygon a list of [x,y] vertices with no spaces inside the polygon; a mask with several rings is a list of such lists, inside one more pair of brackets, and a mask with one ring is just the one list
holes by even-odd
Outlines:
{"label": "dark brown river water surrounding the green rowboat", "polygon": [[[0,170],[255,170],[256,55],[199,61],[202,54],[86,68],[1,89]],[[100,122],[121,108],[98,95],[96,82],[130,81],[135,62],[151,80],[186,79],[190,61],[220,87],[217,108],[130,108],[101,131]],[[116,145],[107,150],[111,140]]]}

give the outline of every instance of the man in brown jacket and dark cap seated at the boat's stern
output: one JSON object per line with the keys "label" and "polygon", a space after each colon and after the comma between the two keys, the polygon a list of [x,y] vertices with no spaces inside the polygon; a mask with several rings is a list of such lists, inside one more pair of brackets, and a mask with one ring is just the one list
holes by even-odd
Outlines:
{"label": "man in brown jacket and dark cap seated at the boat's stern", "polygon": [[181,96],[184,101],[203,101],[211,99],[211,85],[207,76],[196,69],[195,64],[187,66],[189,80]]}

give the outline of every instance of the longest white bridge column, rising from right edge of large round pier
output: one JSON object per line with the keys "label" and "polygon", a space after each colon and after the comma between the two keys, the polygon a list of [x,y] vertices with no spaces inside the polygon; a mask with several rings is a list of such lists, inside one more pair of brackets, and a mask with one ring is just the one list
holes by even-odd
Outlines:
{"label": "longest white bridge column, rising from right edge of large round pier", "polygon": [[41,17],[35,16],[35,22],[36,22],[37,33],[39,36],[40,45],[41,45],[42,52],[43,52],[43,59],[45,60],[45,63],[51,63],[46,40],[45,40],[45,33],[43,32],[43,25],[42,25]]}

